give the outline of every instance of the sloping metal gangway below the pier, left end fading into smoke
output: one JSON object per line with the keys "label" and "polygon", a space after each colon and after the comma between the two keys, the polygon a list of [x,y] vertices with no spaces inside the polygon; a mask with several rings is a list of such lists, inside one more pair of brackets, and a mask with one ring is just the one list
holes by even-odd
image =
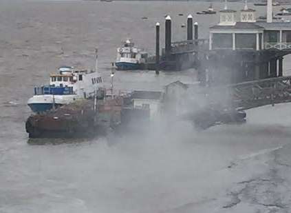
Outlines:
{"label": "sloping metal gangway below the pier, left end fading into smoke", "polygon": [[205,88],[209,103],[250,109],[291,102],[291,76]]}

